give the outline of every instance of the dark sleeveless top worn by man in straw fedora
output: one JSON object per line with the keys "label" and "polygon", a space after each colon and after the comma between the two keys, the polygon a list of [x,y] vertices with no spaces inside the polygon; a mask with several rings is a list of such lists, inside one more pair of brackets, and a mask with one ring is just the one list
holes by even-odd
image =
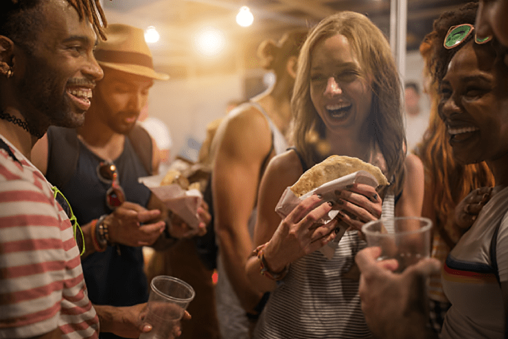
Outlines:
{"label": "dark sleeveless top worn by man in straw fedora", "polygon": [[[63,142],[62,130],[51,127],[48,130],[47,177],[56,171],[54,167],[66,161],[71,154],[52,154],[54,143]],[[77,136],[76,136],[77,138]],[[103,159],[78,143],[78,162],[69,181],[58,187],[69,200],[73,213],[81,225],[100,218],[112,211],[106,206],[106,191],[110,185],[97,177],[97,166]],[[125,191],[126,200],[146,207],[150,199],[150,189],[138,183],[137,178],[148,176],[128,137],[125,138],[124,151],[113,161],[117,167],[119,183]],[[148,301],[148,283],[143,272],[143,253],[141,247],[108,246],[104,252],[95,252],[82,259],[84,280],[89,299],[97,305],[130,306]],[[101,338],[113,336],[100,334]]]}

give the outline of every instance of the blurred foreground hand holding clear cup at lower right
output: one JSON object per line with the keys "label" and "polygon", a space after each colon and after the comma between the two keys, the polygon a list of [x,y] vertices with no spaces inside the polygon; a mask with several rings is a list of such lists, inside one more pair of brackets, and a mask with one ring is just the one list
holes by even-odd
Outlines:
{"label": "blurred foreground hand holding clear cup at lower right", "polygon": [[367,325],[376,338],[437,338],[426,328],[428,299],[426,278],[439,272],[436,259],[422,259],[397,274],[395,259],[377,261],[379,247],[367,247],[356,255],[360,269],[358,293]]}

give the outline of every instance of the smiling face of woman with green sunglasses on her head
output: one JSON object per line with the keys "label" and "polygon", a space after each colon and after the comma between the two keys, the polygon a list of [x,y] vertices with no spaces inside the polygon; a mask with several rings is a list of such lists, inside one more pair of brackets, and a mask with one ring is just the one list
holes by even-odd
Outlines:
{"label": "smiling face of woman with green sunglasses on her head", "polygon": [[457,161],[493,161],[507,154],[507,78],[491,47],[470,42],[452,58],[440,85],[439,113]]}

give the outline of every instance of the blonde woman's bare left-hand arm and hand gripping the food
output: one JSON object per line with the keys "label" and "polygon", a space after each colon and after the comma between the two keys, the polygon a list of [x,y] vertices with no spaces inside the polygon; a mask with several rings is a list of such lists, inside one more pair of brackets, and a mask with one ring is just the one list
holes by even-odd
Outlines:
{"label": "blonde woman's bare left-hand arm and hand gripping the food", "polygon": [[[275,212],[279,198],[286,187],[294,184],[303,173],[298,156],[293,151],[276,156],[270,161],[259,187],[258,213],[255,228],[255,245],[268,242],[264,259],[272,272],[281,272],[293,261],[314,252],[334,238],[332,232],[336,220],[316,226],[319,220],[332,209],[318,196],[303,200],[281,220]],[[256,256],[247,261],[246,274],[259,292],[275,290],[275,282],[259,274],[260,262]]]}

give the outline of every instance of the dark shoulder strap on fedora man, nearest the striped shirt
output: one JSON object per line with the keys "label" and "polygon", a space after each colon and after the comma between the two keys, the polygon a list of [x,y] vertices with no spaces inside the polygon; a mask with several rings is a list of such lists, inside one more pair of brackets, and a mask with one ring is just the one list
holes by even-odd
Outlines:
{"label": "dark shoulder strap on fedora man, nearest the striped shirt", "polygon": [[74,128],[49,127],[46,178],[51,185],[62,189],[71,179],[78,165],[79,147]]}

